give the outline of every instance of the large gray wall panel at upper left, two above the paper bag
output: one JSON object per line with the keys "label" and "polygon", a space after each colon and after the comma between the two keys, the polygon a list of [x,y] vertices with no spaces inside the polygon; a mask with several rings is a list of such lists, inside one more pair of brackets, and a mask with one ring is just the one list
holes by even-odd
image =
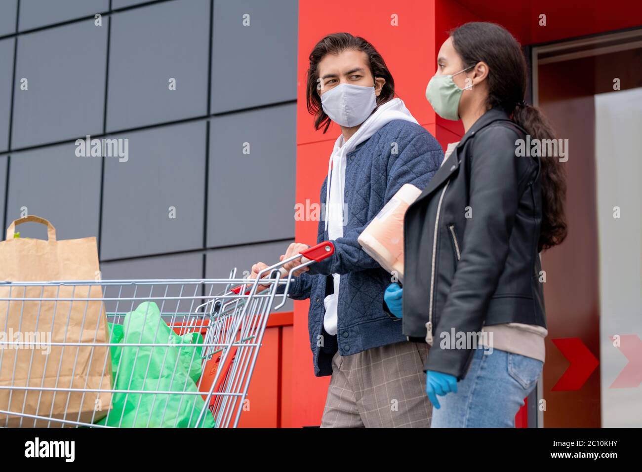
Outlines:
{"label": "large gray wall panel at upper left, two above the paper bag", "polygon": [[[103,130],[107,19],[37,31],[18,40],[12,148]],[[28,90],[21,90],[27,78]]]}

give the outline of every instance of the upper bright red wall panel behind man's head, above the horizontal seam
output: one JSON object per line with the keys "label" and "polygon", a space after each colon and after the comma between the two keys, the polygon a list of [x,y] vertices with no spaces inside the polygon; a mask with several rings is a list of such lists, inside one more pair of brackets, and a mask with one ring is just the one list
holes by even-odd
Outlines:
{"label": "upper bright red wall panel behind man's head, above the horizontal seam", "polygon": [[[402,2],[328,0],[299,2],[299,64],[297,67],[297,143],[322,139],[334,141],[338,128],[324,135],[315,131],[306,110],[306,72],[309,53],[327,34],[346,31],[369,40],[395,79],[397,95],[421,124],[434,123],[435,114],[418,90],[425,90],[435,72],[435,51],[429,48],[435,35],[434,0]],[[397,15],[398,26],[392,26]],[[325,161],[327,164],[327,158]]]}

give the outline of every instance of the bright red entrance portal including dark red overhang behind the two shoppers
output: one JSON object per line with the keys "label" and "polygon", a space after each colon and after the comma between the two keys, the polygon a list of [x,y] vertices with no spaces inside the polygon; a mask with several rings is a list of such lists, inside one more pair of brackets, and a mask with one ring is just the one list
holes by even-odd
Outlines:
{"label": "bright red entrance portal including dark red overhang behind the two shoppers", "polygon": [[[546,14],[546,26],[539,15]],[[397,15],[398,26],[392,26]],[[325,135],[314,130],[306,110],[306,71],[314,44],[328,33],[348,31],[361,35],[379,50],[395,78],[397,95],[415,118],[442,144],[458,141],[461,123],[435,116],[424,91],[435,73],[436,55],[447,31],[467,21],[493,21],[505,26],[522,44],[539,44],[642,24],[642,3],[616,6],[599,0],[580,4],[559,0],[328,0],[299,2],[299,58],[297,66],[297,203],[318,203],[327,160],[339,130]],[[297,221],[295,238],[315,242],[317,222]],[[313,376],[308,337],[308,301],[295,302],[292,329],[291,426],[320,423],[329,378]],[[525,425],[525,410],[516,417]]]}

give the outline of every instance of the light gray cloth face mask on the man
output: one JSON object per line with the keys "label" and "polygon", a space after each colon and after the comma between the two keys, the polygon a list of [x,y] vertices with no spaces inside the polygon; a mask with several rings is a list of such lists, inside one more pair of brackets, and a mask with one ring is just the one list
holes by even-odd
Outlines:
{"label": "light gray cloth face mask on the man", "polygon": [[374,87],[340,83],[321,96],[321,106],[334,123],[352,128],[361,125],[377,106]]}

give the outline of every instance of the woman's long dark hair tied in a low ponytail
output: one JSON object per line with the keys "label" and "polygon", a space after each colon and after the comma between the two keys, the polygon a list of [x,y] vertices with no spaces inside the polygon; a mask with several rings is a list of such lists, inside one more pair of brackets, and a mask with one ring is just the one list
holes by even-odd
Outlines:
{"label": "woman's long dark hair tied in a low ponytail", "polygon": [[[471,22],[450,33],[464,67],[489,66],[488,107],[503,109],[532,138],[555,139],[548,119],[537,107],[524,103],[528,68],[519,42],[498,24]],[[541,157],[542,225],[539,250],[558,245],[568,231],[564,214],[566,172],[555,156]]]}

